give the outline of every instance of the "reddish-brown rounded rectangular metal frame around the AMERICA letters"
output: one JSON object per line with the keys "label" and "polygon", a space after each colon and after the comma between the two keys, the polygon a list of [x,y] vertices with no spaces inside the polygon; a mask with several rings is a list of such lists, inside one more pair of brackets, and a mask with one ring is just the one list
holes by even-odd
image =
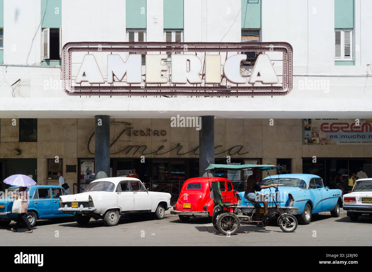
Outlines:
{"label": "reddish-brown rounded rectangular metal frame around the AMERICA letters", "polygon": [[[137,46],[137,47],[134,47]],[[73,86],[71,75],[72,52],[282,52],[283,84],[282,86]],[[254,95],[287,95],[292,90],[292,46],[287,42],[70,42],[62,50],[62,84],[68,95],[193,95],[193,96],[254,96]],[[202,73],[204,72],[204,65]],[[205,74],[201,74],[202,77]],[[222,75],[223,78],[223,75]]]}

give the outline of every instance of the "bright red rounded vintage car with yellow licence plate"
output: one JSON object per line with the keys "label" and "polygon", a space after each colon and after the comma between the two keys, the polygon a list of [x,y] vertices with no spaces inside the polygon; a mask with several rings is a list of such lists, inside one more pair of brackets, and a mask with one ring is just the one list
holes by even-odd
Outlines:
{"label": "bright red rounded vintage car with yellow licence plate", "polygon": [[227,178],[199,177],[189,178],[182,186],[176,205],[173,205],[171,214],[177,214],[182,221],[187,221],[192,216],[209,216],[212,218],[221,207],[211,199],[212,181],[219,181],[223,201],[237,203],[232,183]]}

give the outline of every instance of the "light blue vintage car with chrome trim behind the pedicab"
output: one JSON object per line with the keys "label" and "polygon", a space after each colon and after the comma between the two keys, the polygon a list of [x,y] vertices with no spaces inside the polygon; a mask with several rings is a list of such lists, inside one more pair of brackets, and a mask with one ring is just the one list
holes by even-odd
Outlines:
{"label": "light blue vintage car with chrome trim behind the pedicab", "polygon": [[[311,215],[323,211],[330,211],[333,217],[340,215],[342,207],[342,191],[324,187],[323,179],[310,174],[285,174],[266,177],[262,185],[278,185],[279,205],[287,213],[295,214],[300,224],[310,224]],[[267,195],[268,200],[276,199],[275,189],[270,188],[260,191]],[[247,211],[252,204],[244,198],[244,192],[238,193],[241,211]],[[263,206],[263,204],[261,204]],[[269,203],[270,207],[270,203]],[[263,211],[262,211],[263,212]]]}

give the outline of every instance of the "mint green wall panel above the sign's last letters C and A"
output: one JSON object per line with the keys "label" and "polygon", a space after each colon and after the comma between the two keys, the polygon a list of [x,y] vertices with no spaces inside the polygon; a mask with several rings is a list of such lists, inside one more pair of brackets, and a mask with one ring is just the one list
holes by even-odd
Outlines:
{"label": "mint green wall panel above the sign's last letters C and A", "polygon": [[241,0],[241,28],[261,28],[261,0]]}

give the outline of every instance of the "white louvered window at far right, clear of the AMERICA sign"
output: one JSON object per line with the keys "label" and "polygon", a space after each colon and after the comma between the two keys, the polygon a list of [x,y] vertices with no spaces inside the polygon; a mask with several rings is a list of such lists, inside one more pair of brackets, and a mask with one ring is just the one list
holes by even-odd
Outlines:
{"label": "white louvered window at far right, clear of the AMERICA sign", "polygon": [[336,61],[353,60],[353,32],[351,30],[334,31],[334,59]]}

